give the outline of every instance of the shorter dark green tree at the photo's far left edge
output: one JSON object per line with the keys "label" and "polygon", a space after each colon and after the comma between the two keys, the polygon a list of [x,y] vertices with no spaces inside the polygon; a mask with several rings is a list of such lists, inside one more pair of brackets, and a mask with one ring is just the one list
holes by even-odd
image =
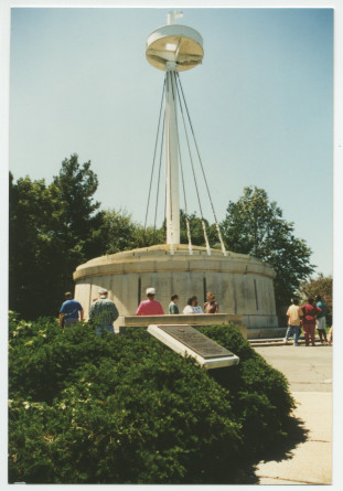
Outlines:
{"label": "shorter dark green tree at the photo's far left edge", "polygon": [[60,204],[44,180],[10,174],[9,307],[29,319],[50,314],[58,292],[62,250],[55,241]]}

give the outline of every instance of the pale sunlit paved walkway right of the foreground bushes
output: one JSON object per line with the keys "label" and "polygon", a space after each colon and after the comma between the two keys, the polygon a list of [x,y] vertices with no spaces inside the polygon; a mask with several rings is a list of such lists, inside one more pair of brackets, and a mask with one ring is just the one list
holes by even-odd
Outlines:
{"label": "pale sunlit paved walkway right of the foreground bushes", "polygon": [[260,346],[255,350],[282,372],[296,399],[294,416],[307,439],[283,460],[259,462],[259,484],[332,483],[332,346]]}

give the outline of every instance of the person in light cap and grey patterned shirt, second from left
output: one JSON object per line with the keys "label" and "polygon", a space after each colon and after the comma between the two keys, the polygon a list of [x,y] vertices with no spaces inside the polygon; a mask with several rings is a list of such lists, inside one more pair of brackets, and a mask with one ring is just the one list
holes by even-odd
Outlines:
{"label": "person in light cap and grey patterned shirt, second from left", "polygon": [[118,317],[116,303],[109,300],[106,288],[100,288],[99,298],[92,303],[89,309],[89,321],[97,324],[96,333],[100,335],[104,331],[108,331],[114,334],[114,322]]}

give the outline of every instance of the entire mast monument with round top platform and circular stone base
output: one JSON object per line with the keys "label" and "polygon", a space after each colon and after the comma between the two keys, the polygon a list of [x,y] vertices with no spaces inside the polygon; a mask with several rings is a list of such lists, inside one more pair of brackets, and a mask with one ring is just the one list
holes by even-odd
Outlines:
{"label": "entire mast monument with round top platform and circular stone base", "polygon": [[[248,338],[278,337],[285,329],[278,328],[272,285],[275,271],[269,265],[248,255],[225,250],[216,217],[221,249],[210,247],[203,217],[206,246],[192,245],[189,222],[189,244],[180,244],[179,121],[187,109],[182,111],[180,118],[178,108],[183,90],[179,73],[196,67],[204,56],[201,34],[176,24],[175,19],[180,15],[179,12],[170,12],[168,24],[149,35],[146,47],[147,61],[154,68],[165,72],[165,244],[96,257],[78,266],[74,273],[75,298],[87,316],[99,288],[106,288],[120,312],[116,322],[118,325],[118,322],[125,323],[126,318],[135,316],[148,287],[156,288],[164,311],[168,311],[173,293],[179,295],[181,306],[193,295],[201,305],[211,290],[216,295],[219,312],[245,324]],[[201,317],[204,319],[206,316]],[[201,321],[196,319],[196,323],[201,324]]]}

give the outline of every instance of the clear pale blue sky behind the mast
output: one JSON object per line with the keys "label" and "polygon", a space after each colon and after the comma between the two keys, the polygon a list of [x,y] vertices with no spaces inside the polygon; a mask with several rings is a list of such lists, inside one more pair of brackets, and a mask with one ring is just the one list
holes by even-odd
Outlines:
{"label": "clear pale blue sky behind the mast", "polygon": [[[101,206],[143,222],[164,77],[146,40],[168,10],[12,10],[14,179],[49,183],[76,152],[92,160]],[[180,77],[218,220],[245,186],[262,188],[317,273],[332,274],[333,10],[182,10],[204,40],[203,64]]]}

